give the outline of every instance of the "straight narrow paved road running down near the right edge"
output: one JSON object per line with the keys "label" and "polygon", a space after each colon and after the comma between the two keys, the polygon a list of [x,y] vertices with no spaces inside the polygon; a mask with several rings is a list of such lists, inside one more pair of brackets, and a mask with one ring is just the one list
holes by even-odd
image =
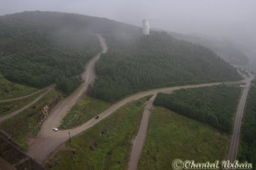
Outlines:
{"label": "straight narrow paved road running down near the right edge", "polygon": [[230,162],[234,162],[236,160],[237,150],[238,150],[238,146],[239,146],[239,136],[240,136],[241,121],[243,118],[244,105],[246,103],[246,97],[247,97],[248,91],[250,89],[250,82],[252,81],[252,78],[247,78],[246,81],[247,81],[246,86],[243,89],[243,93],[241,95],[239,105],[237,107],[237,112],[236,112],[236,121],[234,124],[234,132],[232,135],[230,150],[228,153],[228,160],[230,160]]}

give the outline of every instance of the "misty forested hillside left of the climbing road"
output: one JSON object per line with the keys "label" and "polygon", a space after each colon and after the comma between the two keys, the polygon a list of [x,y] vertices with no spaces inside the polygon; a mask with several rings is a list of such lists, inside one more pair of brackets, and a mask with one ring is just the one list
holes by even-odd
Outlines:
{"label": "misty forested hillside left of the climbing road", "polygon": [[53,24],[56,17],[36,12],[0,17],[0,72],[6,79],[36,88],[56,82],[66,93],[79,86],[77,75],[100,52],[99,40],[83,29]]}

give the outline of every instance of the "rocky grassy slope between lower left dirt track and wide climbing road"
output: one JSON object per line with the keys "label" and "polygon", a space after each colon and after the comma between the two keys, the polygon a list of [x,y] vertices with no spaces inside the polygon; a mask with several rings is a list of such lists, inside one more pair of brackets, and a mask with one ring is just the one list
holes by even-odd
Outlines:
{"label": "rocky grassy slope between lower left dirt track and wide climbing road", "polygon": [[33,106],[1,123],[0,128],[12,135],[12,140],[19,144],[24,151],[28,150],[28,137],[37,135],[42,120],[44,120],[40,109],[58,95],[60,93],[52,90]]}

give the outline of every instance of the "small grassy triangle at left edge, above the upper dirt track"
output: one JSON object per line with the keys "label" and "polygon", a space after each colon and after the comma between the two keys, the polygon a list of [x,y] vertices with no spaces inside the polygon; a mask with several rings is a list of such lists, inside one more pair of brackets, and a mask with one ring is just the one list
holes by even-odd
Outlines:
{"label": "small grassy triangle at left edge, above the upper dirt track", "polygon": [[38,89],[10,82],[4,78],[0,79],[0,100],[23,97],[36,90]]}

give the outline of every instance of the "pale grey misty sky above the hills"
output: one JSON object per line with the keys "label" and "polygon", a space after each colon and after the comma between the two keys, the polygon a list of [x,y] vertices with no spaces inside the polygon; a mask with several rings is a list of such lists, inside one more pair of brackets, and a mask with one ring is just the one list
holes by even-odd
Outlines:
{"label": "pale grey misty sky above the hills", "polygon": [[23,11],[80,13],[178,33],[225,36],[256,49],[256,0],[0,0],[0,15]]}

